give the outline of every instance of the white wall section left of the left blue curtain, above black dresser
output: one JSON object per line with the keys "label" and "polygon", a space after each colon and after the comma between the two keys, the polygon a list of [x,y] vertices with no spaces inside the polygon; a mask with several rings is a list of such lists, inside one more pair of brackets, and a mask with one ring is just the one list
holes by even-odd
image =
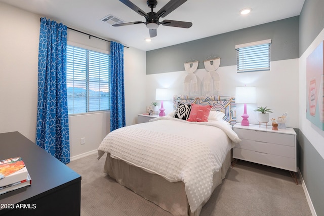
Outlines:
{"label": "white wall section left of the left blue curtain, above black dresser", "polygon": [[0,132],[35,141],[39,16],[0,3]]}

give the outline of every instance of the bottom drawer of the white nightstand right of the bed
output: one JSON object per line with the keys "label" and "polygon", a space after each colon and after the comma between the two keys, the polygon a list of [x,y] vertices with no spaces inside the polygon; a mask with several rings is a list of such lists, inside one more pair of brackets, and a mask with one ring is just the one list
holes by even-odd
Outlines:
{"label": "bottom drawer of the white nightstand right of the bed", "polygon": [[267,166],[273,166],[280,169],[286,169],[296,172],[295,158],[282,157],[278,155],[266,154],[261,152],[250,151],[246,149],[233,149],[233,158],[251,161]]}

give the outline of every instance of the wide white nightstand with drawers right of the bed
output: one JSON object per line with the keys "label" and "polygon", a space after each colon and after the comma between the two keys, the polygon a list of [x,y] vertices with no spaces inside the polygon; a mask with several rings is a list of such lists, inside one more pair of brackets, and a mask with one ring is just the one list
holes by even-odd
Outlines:
{"label": "wide white nightstand with drawers right of the bed", "polygon": [[272,130],[272,126],[235,124],[233,130],[242,140],[233,148],[233,158],[286,169],[298,184],[296,132],[293,128]]}

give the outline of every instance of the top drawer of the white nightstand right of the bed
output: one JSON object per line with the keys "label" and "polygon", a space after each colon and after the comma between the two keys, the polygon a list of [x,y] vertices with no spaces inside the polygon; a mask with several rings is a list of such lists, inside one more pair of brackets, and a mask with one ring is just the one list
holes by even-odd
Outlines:
{"label": "top drawer of the white nightstand right of the bed", "polygon": [[235,128],[234,131],[237,133],[240,139],[256,140],[260,142],[270,142],[279,145],[295,147],[294,135],[260,131],[260,130],[246,130],[240,128]]}

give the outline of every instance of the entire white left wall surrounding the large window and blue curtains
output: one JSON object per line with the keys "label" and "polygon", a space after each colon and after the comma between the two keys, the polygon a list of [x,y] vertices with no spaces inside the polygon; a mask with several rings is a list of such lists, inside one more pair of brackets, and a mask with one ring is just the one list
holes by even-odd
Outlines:
{"label": "entire white left wall surrounding the large window and blue curtains", "polygon": [[[23,19],[22,19],[23,17]],[[19,131],[35,141],[41,16],[0,3],[0,133]],[[64,20],[56,20],[63,22]],[[69,26],[72,27],[73,26]],[[78,29],[82,30],[82,29]],[[98,36],[98,35],[97,35]],[[109,50],[110,44],[68,31],[68,40]],[[109,39],[107,39],[109,40]],[[146,53],[124,49],[126,124],[135,124],[145,100]],[[69,117],[71,157],[95,151],[110,130],[109,112]],[[80,144],[80,138],[86,144]]]}

